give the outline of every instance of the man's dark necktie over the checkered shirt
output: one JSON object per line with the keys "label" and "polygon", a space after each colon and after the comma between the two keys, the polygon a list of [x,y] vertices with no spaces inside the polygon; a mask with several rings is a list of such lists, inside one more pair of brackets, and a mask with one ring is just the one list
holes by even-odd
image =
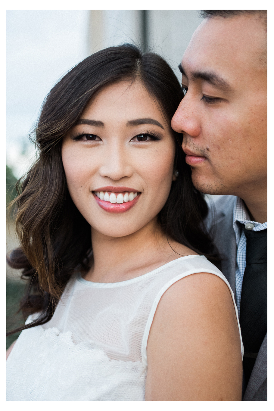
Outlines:
{"label": "man's dark necktie over the checkered shirt", "polygon": [[243,369],[247,385],[267,332],[267,229],[243,230],[246,236],[246,268],[239,321],[244,344]]}

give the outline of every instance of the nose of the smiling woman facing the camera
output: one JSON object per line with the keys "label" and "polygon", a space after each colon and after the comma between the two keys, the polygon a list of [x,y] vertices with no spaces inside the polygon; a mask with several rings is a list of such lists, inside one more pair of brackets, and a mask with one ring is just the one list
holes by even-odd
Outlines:
{"label": "nose of the smiling woman facing the camera", "polygon": [[108,177],[111,180],[121,180],[121,178],[131,177],[133,167],[129,164],[129,156],[126,149],[115,144],[108,147],[104,152],[99,173],[101,177]]}

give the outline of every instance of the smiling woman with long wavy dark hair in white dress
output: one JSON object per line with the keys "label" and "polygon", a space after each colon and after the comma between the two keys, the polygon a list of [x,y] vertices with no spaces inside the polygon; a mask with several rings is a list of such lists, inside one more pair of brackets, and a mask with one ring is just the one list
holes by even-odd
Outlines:
{"label": "smiling woman with long wavy dark hair in white dress", "polygon": [[237,308],[201,255],[207,207],[170,128],[181,93],[132,45],[91,55],[49,93],[9,260],[32,314],[7,361],[9,400],[241,399]]}

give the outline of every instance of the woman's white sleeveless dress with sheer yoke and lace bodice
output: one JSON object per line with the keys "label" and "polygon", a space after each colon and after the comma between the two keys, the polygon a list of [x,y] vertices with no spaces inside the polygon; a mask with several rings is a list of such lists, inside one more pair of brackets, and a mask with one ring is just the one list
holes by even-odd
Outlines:
{"label": "woman's white sleeveless dress with sheer yoke and lace bodice", "polygon": [[159,300],[196,272],[223,279],[234,302],[228,281],[204,256],[117,283],[74,275],[53,318],[18,337],[7,359],[7,401],[144,401],[147,338]]}

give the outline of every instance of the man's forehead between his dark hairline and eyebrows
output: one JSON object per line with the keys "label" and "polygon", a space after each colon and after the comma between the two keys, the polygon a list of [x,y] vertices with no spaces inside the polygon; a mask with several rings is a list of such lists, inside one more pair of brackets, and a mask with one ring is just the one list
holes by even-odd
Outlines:
{"label": "man's forehead between his dark hairline and eyebrows", "polygon": [[200,73],[213,74],[234,88],[244,77],[251,81],[264,75],[260,62],[263,36],[262,24],[252,18],[205,19],[183,55],[182,69],[188,79],[202,79]]}

